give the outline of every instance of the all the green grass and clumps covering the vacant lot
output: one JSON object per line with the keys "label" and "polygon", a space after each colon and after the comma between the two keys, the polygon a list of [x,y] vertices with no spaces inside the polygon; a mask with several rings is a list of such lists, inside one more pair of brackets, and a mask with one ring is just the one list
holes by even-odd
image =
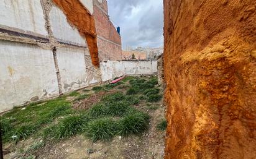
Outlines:
{"label": "all the green grass and clumps covering the vacant lot", "polygon": [[[129,81],[130,85],[127,85]],[[124,85],[126,84],[126,85]],[[137,77],[126,77],[116,84],[93,87],[94,92],[107,91],[112,88],[129,88],[126,93],[107,94],[101,101],[86,111],[76,111],[71,107],[67,96],[46,102],[32,103],[25,109],[14,108],[1,117],[4,142],[19,142],[28,137],[43,136],[44,139],[66,139],[76,134],[97,140],[111,140],[115,135],[140,134],[149,128],[149,115],[137,110],[134,105],[140,101],[159,101],[162,96],[155,87],[155,77],[149,80]],[[83,90],[88,92],[89,90]],[[68,96],[76,97],[75,101],[88,98],[89,94],[71,92]],[[145,101],[144,101],[145,102]],[[150,110],[157,109],[149,107]],[[29,152],[42,147],[44,142],[36,142]],[[33,156],[32,156],[33,157]]]}

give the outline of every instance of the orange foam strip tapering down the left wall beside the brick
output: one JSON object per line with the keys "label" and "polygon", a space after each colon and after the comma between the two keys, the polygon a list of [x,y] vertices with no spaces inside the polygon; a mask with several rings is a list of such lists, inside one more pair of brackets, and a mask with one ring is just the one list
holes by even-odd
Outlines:
{"label": "orange foam strip tapering down the left wall beside the brick", "polygon": [[53,0],[53,2],[62,9],[71,25],[75,25],[80,34],[86,38],[91,61],[94,66],[99,66],[97,36],[93,16],[79,0]]}

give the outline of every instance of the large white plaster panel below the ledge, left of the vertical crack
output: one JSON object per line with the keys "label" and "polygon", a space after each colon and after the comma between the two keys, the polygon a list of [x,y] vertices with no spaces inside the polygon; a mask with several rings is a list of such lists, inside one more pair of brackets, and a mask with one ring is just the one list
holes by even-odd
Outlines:
{"label": "large white plaster panel below the ledge, left of the vertical crack", "polygon": [[33,97],[58,95],[52,51],[36,45],[0,41],[0,112]]}

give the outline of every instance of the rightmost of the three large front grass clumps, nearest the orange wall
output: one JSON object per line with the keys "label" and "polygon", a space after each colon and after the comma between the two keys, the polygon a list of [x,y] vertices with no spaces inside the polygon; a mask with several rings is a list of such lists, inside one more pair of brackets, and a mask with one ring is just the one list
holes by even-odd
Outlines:
{"label": "rightmost of the three large front grass clumps, nearest the orange wall", "polygon": [[119,134],[140,134],[149,127],[149,116],[147,114],[136,112],[129,113],[119,121]]}

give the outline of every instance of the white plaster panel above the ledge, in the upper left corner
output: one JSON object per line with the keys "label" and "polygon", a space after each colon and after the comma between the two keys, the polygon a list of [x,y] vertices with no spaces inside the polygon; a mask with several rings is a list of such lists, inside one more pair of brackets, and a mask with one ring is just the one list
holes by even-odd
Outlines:
{"label": "white plaster panel above the ledge, in the upper left corner", "polygon": [[0,24],[47,35],[39,0],[0,0]]}

